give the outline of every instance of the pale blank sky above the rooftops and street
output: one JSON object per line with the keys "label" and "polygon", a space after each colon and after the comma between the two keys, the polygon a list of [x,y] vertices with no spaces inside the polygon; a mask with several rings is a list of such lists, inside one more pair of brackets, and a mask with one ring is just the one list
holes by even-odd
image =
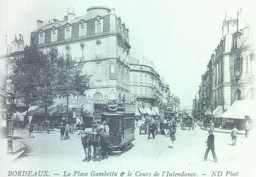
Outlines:
{"label": "pale blank sky above the rooftops and street", "polygon": [[[1,0],[0,44],[8,44],[15,35],[24,36],[29,45],[30,34],[36,29],[36,20],[64,19],[68,8],[74,8],[76,17],[86,14],[91,6],[115,9],[121,22],[129,28],[131,55],[147,57],[169,85],[170,92],[180,98],[181,108],[191,107],[199,90],[201,76],[206,71],[212,52],[221,41],[222,24],[237,17],[237,11],[247,14],[247,22],[255,22],[256,1],[53,1]],[[5,50],[0,48],[0,54]]]}

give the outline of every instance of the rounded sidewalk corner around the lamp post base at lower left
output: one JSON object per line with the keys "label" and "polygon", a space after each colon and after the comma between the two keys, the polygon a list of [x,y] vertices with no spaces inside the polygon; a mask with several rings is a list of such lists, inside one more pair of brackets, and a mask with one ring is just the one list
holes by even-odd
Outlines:
{"label": "rounded sidewalk corner around the lamp post base at lower left", "polygon": [[8,154],[7,153],[7,144],[8,144],[7,140],[8,140],[8,138],[0,138],[0,144],[1,144],[0,159],[3,159],[3,161],[10,162],[10,161],[14,161],[15,159],[18,159],[20,156],[25,154],[26,147],[19,140],[13,140],[13,153]]}

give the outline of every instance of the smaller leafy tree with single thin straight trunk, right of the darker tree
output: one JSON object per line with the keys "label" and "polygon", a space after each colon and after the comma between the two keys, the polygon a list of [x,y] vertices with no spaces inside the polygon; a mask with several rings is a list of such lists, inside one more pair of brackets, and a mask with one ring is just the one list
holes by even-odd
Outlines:
{"label": "smaller leafy tree with single thin straight trunk, right of the darker tree", "polygon": [[[54,49],[57,50],[57,49]],[[66,121],[68,122],[69,96],[84,93],[89,89],[90,75],[82,71],[83,65],[72,59],[67,53],[66,56],[59,55],[54,61],[56,74],[54,80],[58,96],[66,97]]]}

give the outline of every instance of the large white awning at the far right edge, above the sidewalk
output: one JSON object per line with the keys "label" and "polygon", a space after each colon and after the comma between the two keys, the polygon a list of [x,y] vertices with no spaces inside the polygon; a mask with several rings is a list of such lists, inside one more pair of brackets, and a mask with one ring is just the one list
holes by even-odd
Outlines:
{"label": "large white awning at the far right edge, above the sidewalk", "polygon": [[230,108],[222,115],[224,118],[245,119],[249,116],[251,119],[256,118],[256,100],[235,100]]}

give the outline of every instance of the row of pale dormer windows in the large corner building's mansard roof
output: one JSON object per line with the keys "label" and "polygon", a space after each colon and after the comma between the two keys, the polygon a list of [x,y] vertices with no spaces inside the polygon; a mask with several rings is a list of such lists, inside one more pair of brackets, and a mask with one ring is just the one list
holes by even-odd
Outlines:
{"label": "row of pale dormer windows in the large corner building's mansard roof", "polygon": [[[82,22],[78,24],[78,36],[86,36],[87,30],[89,27],[87,27],[87,22]],[[53,27],[51,30],[51,42],[58,41],[58,28]],[[123,37],[126,41],[128,41],[128,31],[127,30],[119,30],[119,33],[123,33]],[[94,24],[94,34],[103,33],[103,18],[95,20]],[[42,45],[45,43],[45,31],[40,30],[39,31],[39,45]],[[64,27],[64,40],[71,39],[72,38],[72,25],[67,24]]]}

